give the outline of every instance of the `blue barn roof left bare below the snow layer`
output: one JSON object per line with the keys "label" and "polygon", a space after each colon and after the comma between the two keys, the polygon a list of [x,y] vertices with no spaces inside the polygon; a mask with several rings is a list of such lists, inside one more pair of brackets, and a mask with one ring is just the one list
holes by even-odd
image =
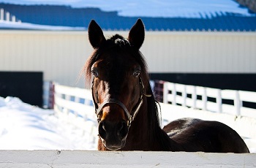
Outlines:
{"label": "blue barn roof left bare below the snow layer", "polygon": [[[203,3],[202,0],[199,1]],[[177,4],[177,7],[181,7],[181,4]],[[233,7],[234,9],[226,9],[229,7],[227,5],[224,9],[219,10],[217,7],[215,10],[212,9],[213,7],[208,7],[209,9],[203,9],[203,7],[199,7],[202,8],[199,11],[191,11],[186,8],[189,12],[174,11],[167,14],[164,12],[161,15],[148,15],[150,12],[145,14],[143,12],[138,13],[136,10],[133,13],[129,10],[126,12],[125,9],[122,12],[118,12],[113,9],[105,9],[103,11],[98,7],[76,8],[59,4],[25,5],[0,3],[0,8],[10,12],[11,15],[15,15],[23,23],[47,26],[68,26],[76,29],[86,29],[90,20],[94,19],[104,30],[120,31],[131,28],[135,21],[141,18],[147,31],[256,31],[256,14],[244,7],[240,7],[238,4],[237,7]],[[167,11],[167,9],[163,10]],[[184,11],[185,9],[181,8],[180,10]]]}

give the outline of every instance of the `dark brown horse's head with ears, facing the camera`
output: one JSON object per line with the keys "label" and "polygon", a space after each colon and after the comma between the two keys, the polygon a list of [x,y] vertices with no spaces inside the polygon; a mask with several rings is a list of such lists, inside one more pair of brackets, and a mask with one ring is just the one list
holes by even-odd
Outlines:
{"label": "dark brown horse's head with ears, facing the camera", "polygon": [[143,104],[143,80],[147,74],[139,49],[144,36],[140,19],[129,31],[128,39],[118,34],[105,39],[94,20],[89,24],[94,53],[86,62],[86,76],[87,80],[92,79],[99,137],[109,150],[124,147],[129,126]]}

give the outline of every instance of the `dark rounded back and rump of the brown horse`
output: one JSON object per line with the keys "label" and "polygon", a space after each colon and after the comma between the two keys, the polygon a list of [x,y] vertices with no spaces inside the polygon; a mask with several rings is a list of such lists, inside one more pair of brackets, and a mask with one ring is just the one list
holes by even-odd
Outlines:
{"label": "dark rounded back and rump of the brown horse", "polygon": [[244,140],[229,126],[218,121],[181,118],[163,128],[177,149],[214,153],[249,153]]}

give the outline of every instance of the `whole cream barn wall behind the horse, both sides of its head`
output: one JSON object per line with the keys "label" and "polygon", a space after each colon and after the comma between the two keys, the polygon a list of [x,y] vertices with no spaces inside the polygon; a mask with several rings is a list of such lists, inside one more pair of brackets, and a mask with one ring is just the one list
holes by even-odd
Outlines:
{"label": "whole cream barn wall behind the horse, both sides of its head", "polygon": [[[105,37],[128,32],[105,31]],[[0,31],[0,71],[42,71],[44,80],[84,87],[92,52],[86,31]],[[147,31],[141,52],[149,71],[256,73],[255,32]]]}

